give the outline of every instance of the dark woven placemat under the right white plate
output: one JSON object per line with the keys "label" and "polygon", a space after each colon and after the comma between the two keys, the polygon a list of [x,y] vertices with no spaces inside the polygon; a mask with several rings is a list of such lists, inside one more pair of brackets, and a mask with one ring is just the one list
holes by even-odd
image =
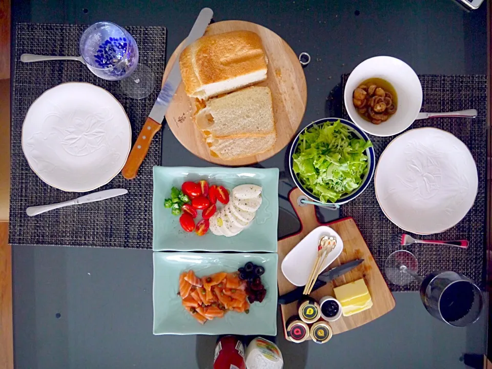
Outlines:
{"label": "dark woven placemat under the right white plate", "polygon": [[[344,88],[348,75],[342,76]],[[392,234],[405,233],[395,226],[381,211],[374,192],[374,181],[356,199],[343,204],[341,216],[354,217],[364,236],[367,246],[373,253],[379,268],[383,271],[386,257],[393,251],[406,249],[415,254],[422,276],[434,270],[452,270],[473,279],[484,288],[485,282],[485,187],[487,161],[487,79],[483,75],[419,75],[423,90],[423,112],[446,112],[477,109],[474,119],[432,118],[416,120],[411,128],[436,127],[453,133],[470,149],[478,169],[478,193],[475,204],[457,226],[427,239],[467,239],[468,249],[437,245],[411,245],[401,247],[392,244]],[[343,107],[343,117],[348,114]],[[376,158],[383,152],[393,137],[370,136]],[[422,236],[415,235],[417,238]],[[384,273],[383,273],[384,274]],[[393,291],[418,291],[419,284],[413,282],[404,287],[388,283]]]}

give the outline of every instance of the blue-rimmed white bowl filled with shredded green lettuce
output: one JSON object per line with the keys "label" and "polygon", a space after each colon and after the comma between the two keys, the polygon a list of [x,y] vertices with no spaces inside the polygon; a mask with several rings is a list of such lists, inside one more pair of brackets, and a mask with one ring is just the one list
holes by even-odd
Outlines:
{"label": "blue-rimmed white bowl filled with shredded green lettuce", "polygon": [[316,120],[292,142],[292,178],[316,202],[339,205],[353,200],[371,182],[375,166],[370,139],[345,119]]}

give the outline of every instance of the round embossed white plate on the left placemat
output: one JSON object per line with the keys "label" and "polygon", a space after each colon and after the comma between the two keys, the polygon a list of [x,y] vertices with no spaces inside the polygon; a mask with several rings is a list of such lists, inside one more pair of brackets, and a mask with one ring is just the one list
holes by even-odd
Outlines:
{"label": "round embossed white plate on the left placemat", "polygon": [[48,185],[86,192],[105,185],[123,168],[131,148],[125,110],[108,91],[66,83],[39,96],[22,128],[31,169]]}

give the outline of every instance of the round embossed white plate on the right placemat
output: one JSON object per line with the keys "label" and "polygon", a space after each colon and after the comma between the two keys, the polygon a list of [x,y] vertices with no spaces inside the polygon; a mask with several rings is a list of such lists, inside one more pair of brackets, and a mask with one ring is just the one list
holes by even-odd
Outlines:
{"label": "round embossed white plate on the right placemat", "polygon": [[475,202],[478,174],[470,151],[436,128],[408,131],[389,143],[374,175],[384,214],[405,231],[443,232]]}

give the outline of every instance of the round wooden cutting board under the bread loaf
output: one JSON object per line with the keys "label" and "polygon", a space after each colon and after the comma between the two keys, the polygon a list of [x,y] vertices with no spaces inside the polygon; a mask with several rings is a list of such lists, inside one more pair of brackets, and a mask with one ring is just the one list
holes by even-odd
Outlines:
{"label": "round wooden cutting board under the bread loaf", "polygon": [[[272,91],[273,110],[277,129],[277,141],[272,150],[262,154],[235,160],[222,160],[211,155],[202,133],[192,120],[192,99],[185,93],[185,86],[181,82],[173,101],[166,113],[169,128],[181,144],[196,156],[222,166],[244,166],[268,159],[289,144],[296,134],[306,110],[308,91],[304,71],[299,59],[291,47],[268,28],[244,22],[242,20],[226,20],[211,24],[206,35],[213,35],[229,31],[248,30],[256,32],[262,40],[265,53],[268,57],[267,80],[257,86],[268,86]],[[181,45],[171,55],[163,80],[166,79],[176,60]]]}

